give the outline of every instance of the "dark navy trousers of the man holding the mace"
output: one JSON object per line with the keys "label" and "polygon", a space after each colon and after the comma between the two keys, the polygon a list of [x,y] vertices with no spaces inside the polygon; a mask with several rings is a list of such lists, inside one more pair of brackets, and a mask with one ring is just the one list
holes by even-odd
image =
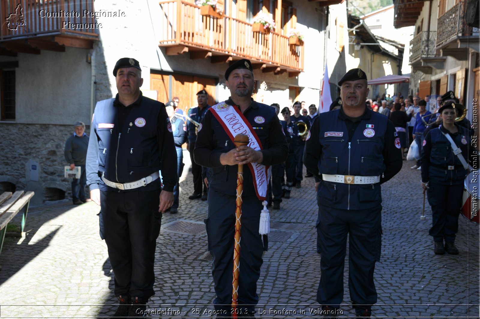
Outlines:
{"label": "dark navy trousers of the man holding the mace", "polygon": [[[254,311],[258,303],[257,281],[260,278],[262,255],[268,238],[258,233],[262,202],[256,196],[243,196],[240,230],[239,309]],[[208,250],[212,254],[212,276],[215,282],[215,309],[230,317],[232,303],[233,250],[235,235],[236,196],[208,192],[208,216],[205,226]]]}

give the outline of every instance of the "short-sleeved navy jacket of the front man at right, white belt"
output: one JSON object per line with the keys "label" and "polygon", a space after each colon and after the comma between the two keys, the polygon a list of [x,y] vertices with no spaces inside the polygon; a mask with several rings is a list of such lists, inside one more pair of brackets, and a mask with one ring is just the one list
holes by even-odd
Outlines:
{"label": "short-sleeved navy jacket of the front man at right, white belt", "polygon": [[[304,164],[314,175],[379,176],[380,184],[402,168],[400,140],[393,123],[365,109],[350,121],[343,108],[324,112],[313,122],[306,141]],[[319,203],[335,209],[370,209],[382,202],[380,184],[320,181]]]}

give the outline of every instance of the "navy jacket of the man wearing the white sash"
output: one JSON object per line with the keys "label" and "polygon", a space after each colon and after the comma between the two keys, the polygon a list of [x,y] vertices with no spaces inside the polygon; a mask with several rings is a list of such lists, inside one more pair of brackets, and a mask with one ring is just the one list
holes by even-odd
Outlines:
{"label": "navy jacket of the man wearing the white sash", "polygon": [[[235,105],[230,98],[225,103]],[[257,127],[254,131],[263,146],[261,152],[264,159],[261,164],[271,166],[283,163],[287,159],[288,146],[275,110],[269,105],[257,103],[252,99],[252,104],[243,115],[253,127]],[[264,123],[255,123],[254,119],[257,116],[264,117]],[[235,145],[223,126],[211,111],[207,112],[202,120],[202,129],[198,132],[193,154],[198,165],[211,168],[209,189],[236,195],[238,167],[237,165],[222,166],[220,163],[220,155],[233,148]],[[244,196],[256,196],[252,173],[248,165],[243,167],[243,185]]]}

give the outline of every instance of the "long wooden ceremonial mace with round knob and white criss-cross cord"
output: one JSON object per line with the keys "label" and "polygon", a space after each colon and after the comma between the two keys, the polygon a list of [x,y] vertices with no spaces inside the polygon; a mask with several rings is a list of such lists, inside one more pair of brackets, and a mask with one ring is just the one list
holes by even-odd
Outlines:
{"label": "long wooden ceremonial mace with round knob and white criss-cross cord", "polygon": [[[235,147],[248,144],[248,136],[238,134],[233,141]],[[239,297],[239,273],[240,273],[240,229],[241,229],[241,195],[243,193],[243,164],[239,164],[237,172],[237,208],[235,209],[235,245],[233,250],[233,280],[232,280],[232,308],[233,318],[238,318],[237,306]]]}

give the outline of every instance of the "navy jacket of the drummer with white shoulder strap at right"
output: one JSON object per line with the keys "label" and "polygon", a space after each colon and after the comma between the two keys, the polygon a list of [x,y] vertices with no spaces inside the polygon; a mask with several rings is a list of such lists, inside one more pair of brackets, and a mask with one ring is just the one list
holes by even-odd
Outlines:
{"label": "navy jacket of the drummer with white shoulder strap at right", "polygon": [[[448,139],[442,134],[450,134],[457,147],[462,150],[463,158],[468,162],[468,150],[471,143],[471,135],[466,128],[455,124],[458,133],[449,133],[441,125],[430,130],[423,140],[421,152],[421,180],[423,183],[456,185],[463,184],[468,171],[464,169],[460,159],[453,153],[453,148]],[[472,153],[473,152],[473,153]],[[470,147],[470,154],[475,154],[473,147]],[[449,170],[448,166],[453,166]]]}

